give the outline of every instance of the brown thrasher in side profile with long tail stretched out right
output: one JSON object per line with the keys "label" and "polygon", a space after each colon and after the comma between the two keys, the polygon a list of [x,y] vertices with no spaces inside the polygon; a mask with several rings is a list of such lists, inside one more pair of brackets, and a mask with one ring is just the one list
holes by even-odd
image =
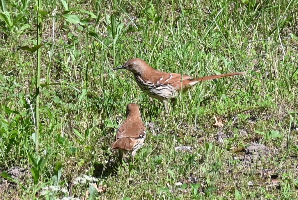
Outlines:
{"label": "brown thrasher in side profile with long tail stretched out right", "polygon": [[146,92],[150,97],[163,101],[164,103],[166,103],[168,99],[175,102],[181,90],[185,92],[198,82],[245,74],[245,72],[234,72],[194,78],[193,76],[155,70],[144,60],[139,58],[130,59],[125,62],[124,65],[114,68],[113,70],[117,69],[127,69],[134,73],[136,83],[142,91]]}

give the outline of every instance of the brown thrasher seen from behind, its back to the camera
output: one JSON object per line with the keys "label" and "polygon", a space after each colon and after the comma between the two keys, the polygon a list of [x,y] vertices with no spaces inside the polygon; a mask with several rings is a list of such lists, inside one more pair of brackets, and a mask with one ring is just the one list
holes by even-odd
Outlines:
{"label": "brown thrasher seen from behind, its back to the camera", "polygon": [[112,149],[119,149],[119,161],[124,151],[131,152],[134,157],[136,151],[144,145],[146,128],[141,119],[141,112],[137,104],[128,104],[126,107],[126,119],[117,130]]}

